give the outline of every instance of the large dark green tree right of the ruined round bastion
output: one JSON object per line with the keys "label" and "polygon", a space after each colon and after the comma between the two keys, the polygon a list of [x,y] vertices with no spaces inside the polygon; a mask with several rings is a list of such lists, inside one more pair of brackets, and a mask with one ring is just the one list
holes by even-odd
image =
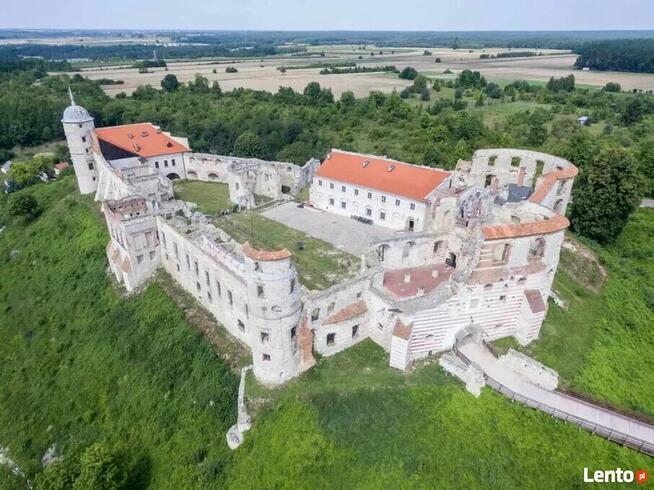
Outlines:
{"label": "large dark green tree right of the ruined round bastion", "polygon": [[642,179],[630,153],[610,147],[583,168],[575,186],[573,229],[599,243],[610,243],[640,203]]}

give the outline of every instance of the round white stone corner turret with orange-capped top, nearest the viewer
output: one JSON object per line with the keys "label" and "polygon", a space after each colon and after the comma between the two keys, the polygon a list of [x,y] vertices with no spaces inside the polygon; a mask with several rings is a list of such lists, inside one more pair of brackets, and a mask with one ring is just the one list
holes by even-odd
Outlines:
{"label": "round white stone corner turret with orange-capped top, nearest the viewer", "polygon": [[267,384],[279,384],[298,374],[299,323],[302,314],[297,269],[288,250],[241,247],[249,268],[250,346],[254,374]]}

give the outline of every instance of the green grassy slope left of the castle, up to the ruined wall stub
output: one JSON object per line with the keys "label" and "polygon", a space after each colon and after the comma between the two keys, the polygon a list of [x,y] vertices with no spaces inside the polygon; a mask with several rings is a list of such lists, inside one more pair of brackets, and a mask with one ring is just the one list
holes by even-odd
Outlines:
{"label": "green grassy slope left of the castle, up to the ruined wall stub", "polygon": [[73,176],[29,192],[43,215],[0,233],[0,446],[29,477],[52,444],[103,442],[132,488],[219,486],[237,378],[160,287],[114,291]]}

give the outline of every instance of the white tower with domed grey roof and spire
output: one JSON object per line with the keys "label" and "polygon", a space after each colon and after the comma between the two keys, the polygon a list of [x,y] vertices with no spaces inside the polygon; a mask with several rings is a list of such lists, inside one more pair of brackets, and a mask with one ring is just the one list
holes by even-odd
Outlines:
{"label": "white tower with domed grey roof and spire", "polygon": [[73,161],[77,185],[82,194],[95,192],[98,187],[97,170],[91,150],[91,131],[95,129],[93,118],[86,109],[75,104],[73,92],[68,87],[70,106],[64,111],[61,122],[68,142],[68,151]]}

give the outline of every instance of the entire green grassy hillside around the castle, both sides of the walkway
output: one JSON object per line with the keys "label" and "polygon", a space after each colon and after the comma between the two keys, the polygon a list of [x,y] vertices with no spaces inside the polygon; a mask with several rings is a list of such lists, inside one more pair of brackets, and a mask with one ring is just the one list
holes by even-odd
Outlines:
{"label": "entire green grassy hillside around the castle, both sides of the walkway", "polygon": [[[105,225],[73,177],[29,192],[44,213],[0,233],[0,447],[30,478],[53,443],[95,442],[129,488],[570,488],[584,466],[652,465],[490,390],[475,399],[434,362],[393,370],[369,341],[277,390],[251,383],[253,429],[231,453],[226,363],[156,284],[114,289]],[[601,251],[600,293],[557,279],[569,309],[551,306],[533,348],[577,389],[647,413],[653,227],[639,211]]]}

